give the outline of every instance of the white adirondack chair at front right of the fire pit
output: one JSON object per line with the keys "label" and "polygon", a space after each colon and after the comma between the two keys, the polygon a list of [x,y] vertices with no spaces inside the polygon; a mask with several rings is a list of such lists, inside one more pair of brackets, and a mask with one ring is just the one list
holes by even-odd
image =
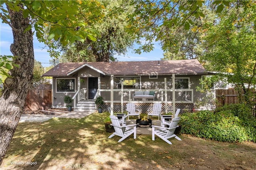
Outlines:
{"label": "white adirondack chair at front right of the fire pit", "polygon": [[157,135],[158,137],[160,137],[161,139],[163,139],[170,145],[172,145],[172,143],[168,139],[170,139],[172,137],[175,137],[176,139],[181,141],[181,139],[174,134],[176,127],[179,127],[178,126],[179,121],[180,121],[180,117],[174,117],[172,119],[172,121],[170,122],[169,127],[161,127],[161,126],[153,125],[152,126],[152,141],[155,140],[155,135]]}

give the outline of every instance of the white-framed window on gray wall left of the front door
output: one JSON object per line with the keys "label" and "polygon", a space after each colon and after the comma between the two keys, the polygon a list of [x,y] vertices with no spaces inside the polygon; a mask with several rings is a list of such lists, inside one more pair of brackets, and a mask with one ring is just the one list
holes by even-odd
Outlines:
{"label": "white-framed window on gray wall left of the front door", "polygon": [[56,92],[75,92],[75,78],[56,78]]}

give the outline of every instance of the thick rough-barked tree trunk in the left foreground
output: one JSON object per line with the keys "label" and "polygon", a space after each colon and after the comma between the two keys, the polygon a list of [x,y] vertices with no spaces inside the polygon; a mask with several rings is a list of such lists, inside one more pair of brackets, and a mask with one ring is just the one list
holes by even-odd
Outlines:
{"label": "thick rough-barked tree trunk in the left foreground", "polygon": [[[22,5],[20,5],[21,8]],[[8,6],[7,6],[8,8]],[[29,18],[23,18],[22,11],[16,12],[8,8],[14,43],[10,50],[16,59],[14,67],[8,73],[12,78],[4,81],[4,91],[0,98],[0,164],[10,145],[24,105],[28,88],[31,83],[34,67],[33,34],[32,30],[23,33],[30,24]]]}

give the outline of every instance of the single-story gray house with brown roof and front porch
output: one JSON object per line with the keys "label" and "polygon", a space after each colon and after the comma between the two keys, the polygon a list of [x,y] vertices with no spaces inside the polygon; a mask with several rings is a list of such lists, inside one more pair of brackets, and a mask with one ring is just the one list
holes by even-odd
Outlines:
{"label": "single-story gray house with brown roof and front porch", "polygon": [[[74,99],[76,110],[95,110],[97,96],[103,109],[125,111],[126,103],[146,112],[153,103],[162,111],[192,110],[200,96],[196,86],[209,73],[198,60],[59,63],[43,76],[52,76],[52,107],[66,107],[64,96]],[[174,92],[175,93],[172,93]]]}

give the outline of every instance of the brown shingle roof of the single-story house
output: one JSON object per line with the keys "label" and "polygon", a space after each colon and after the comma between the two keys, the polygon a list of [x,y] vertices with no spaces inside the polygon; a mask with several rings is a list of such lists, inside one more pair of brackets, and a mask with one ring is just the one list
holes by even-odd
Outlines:
{"label": "brown shingle roof of the single-story house", "polygon": [[106,75],[202,74],[206,71],[198,60],[159,61],[159,65],[158,61],[88,62],[60,63],[60,68],[52,68],[43,76],[64,76],[75,69],[80,69],[83,64],[88,64]]}

